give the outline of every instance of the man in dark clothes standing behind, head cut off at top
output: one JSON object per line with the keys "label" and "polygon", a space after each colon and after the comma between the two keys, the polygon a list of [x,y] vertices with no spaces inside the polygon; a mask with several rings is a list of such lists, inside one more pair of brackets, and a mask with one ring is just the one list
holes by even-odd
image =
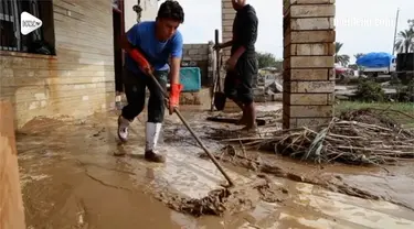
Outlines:
{"label": "man in dark clothes standing behind, head cut off at top", "polygon": [[255,43],[258,20],[256,11],[246,0],[232,0],[236,17],[233,22],[233,39],[215,46],[215,50],[232,46],[231,57],[226,63],[224,92],[243,110],[241,124],[245,130],[256,129],[256,110],[253,100],[252,84],[257,75]]}

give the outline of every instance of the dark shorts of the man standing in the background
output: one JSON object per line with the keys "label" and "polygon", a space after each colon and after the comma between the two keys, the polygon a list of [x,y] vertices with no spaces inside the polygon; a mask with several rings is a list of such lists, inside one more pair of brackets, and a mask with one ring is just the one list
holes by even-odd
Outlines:
{"label": "dark shorts of the man standing in the background", "polygon": [[224,79],[224,94],[232,100],[250,105],[253,98],[253,80],[258,74],[256,57],[240,58],[235,69],[227,72]]}

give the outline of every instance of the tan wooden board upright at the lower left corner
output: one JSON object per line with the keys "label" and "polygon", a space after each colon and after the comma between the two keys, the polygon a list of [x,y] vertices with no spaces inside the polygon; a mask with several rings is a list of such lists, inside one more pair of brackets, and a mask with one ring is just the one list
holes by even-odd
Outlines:
{"label": "tan wooden board upright at the lower left corner", "polygon": [[25,229],[20,187],[13,107],[0,100],[0,228]]}

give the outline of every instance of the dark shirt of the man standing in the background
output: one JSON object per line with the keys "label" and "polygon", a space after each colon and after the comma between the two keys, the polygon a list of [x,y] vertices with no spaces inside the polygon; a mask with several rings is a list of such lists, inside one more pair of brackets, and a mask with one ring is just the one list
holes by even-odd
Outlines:
{"label": "dark shirt of the man standing in the background", "polygon": [[257,28],[258,20],[256,17],[256,11],[251,4],[246,4],[241,10],[237,10],[233,22],[232,55],[238,47],[244,46],[246,51],[241,57],[255,56]]}

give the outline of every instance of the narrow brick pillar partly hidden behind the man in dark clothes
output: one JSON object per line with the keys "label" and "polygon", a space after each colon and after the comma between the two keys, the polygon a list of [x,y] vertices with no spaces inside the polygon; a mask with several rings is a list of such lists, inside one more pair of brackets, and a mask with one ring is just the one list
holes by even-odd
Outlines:
{"label": "narrow brick pillar partly hidden behind the man in dark clothes", "polygon": [[[227,42],[233,37],[233,21],[236,11],[233,9],[232,1],[222,0],[222,42]],[[222,53],[223,62],[230,57],[230,48],[225,48]]]}

